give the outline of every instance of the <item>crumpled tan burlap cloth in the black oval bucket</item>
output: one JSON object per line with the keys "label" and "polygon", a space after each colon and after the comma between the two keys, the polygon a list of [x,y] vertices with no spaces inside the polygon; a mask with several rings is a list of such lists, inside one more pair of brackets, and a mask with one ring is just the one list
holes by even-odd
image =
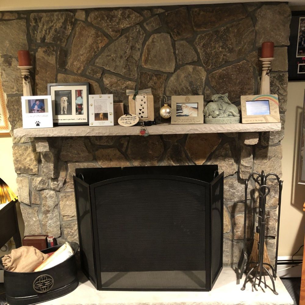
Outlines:
{"label": "crumpled tan burlap cloth in the black oval bucket", "polygon": [[8,271],[33,272],[48,257],[48,254],[40,252],[33,246],[22,246],[5,255],[2,258],[2,264]]}

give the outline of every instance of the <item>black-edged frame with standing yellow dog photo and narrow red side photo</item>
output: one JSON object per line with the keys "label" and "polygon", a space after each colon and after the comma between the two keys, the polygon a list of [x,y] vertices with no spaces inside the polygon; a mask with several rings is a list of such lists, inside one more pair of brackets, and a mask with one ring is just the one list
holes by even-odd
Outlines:
{"label": "black-edged frame with standing yellow dog photo and narrow red side photo", "polygon": [[52,99],[53,124],[89,125],[89,83],[48,84]]}

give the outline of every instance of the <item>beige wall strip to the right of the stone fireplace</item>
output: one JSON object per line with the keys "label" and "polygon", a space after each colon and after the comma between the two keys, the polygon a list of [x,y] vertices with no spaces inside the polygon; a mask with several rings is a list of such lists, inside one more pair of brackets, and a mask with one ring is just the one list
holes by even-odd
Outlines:
{"label": "beige wall strip to the right of the stone fireplace", "polygon": [[[284,182],[278,256],[291,256],[304,243],[305,185],[297,183],[304,91],[305,81],[289,82],[285,137],[282,140],[282,179]],[[302,253],[300,251],[299,255]]]}

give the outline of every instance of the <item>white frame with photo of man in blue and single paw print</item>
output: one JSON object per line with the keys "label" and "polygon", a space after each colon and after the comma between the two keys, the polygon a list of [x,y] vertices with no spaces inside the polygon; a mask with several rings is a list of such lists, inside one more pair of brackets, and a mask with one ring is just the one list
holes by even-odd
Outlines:
{"label": "white frame with photo of man in blue and single paw print", "polygon": [[50,95],[22,96],[21,107],[23,129],[53,127]]}

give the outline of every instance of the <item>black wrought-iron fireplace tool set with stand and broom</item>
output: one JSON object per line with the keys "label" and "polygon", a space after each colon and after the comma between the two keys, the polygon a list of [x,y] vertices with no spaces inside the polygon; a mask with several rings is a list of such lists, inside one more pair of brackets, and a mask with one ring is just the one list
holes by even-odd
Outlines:
{"label": "black wrought-iron fireplace tool set with stand and broom", "polygon": [[[257,177],[255,178],[255,176]],[[270,193],[270,187],[267,185],[267,178],[274,176],[276,181],[278,182],[278,226],[277,226],[277,233],[276,233],[276,252],[275,252],[275,265],[274,268],[264,260],[264,253],[267,251],[265,249],[265,231],[266,231],[266,221],[270,216],[266,217],[266,199]],[[248,191],[248,182],[253,177],[255,183],[259,185],[259,206],[258,206],[258,225],[256,227],[256,232],[259,235],[258,239],[258,259],[257,261],[248,261],[248,255],[246,252],[246,219],[247,219],[247,191]],[[275,181],[275,180],[274,180]],[[278,295],[278,292],[275,291],[274,280],[276,279],[276,271],[277,271],[277,261],[276,258],[278,256],[278,235],[279,235],[279,224],[280,224],[280,212],[281,212],[281,198],[282,198],[282,188],[283,188],[283,181],[278,178],[278,175],[270,173],[265,175],[264,171],[261,174],[259,173],[251,173],[248,179],[245,181],[245,218],[244,218],[244,246],[242,252],[242,262],[240,266],[240,274],[239,278],[242,278],[242,274],[244,272],[247,273],[249,266],[253,266],[246,275],[245,282],[241,288],[241,290],[245,290],[246,283],[249,279],[250,274],[253,273],[254,275],[254,284],[253,288],[255,288],[256,281],[258,280],[258,286],[260,286],[262,282],[262,278],[264,277],[264,284],[265,288],[267,288],[266,284],[266,277],[265,275],[269,276],[273,286],[273,293]],[[267,253],[265,253],[266,255]],[[270,271],[272,272],[272,275]],[[274,278],[274,279],[273,279]]]}

